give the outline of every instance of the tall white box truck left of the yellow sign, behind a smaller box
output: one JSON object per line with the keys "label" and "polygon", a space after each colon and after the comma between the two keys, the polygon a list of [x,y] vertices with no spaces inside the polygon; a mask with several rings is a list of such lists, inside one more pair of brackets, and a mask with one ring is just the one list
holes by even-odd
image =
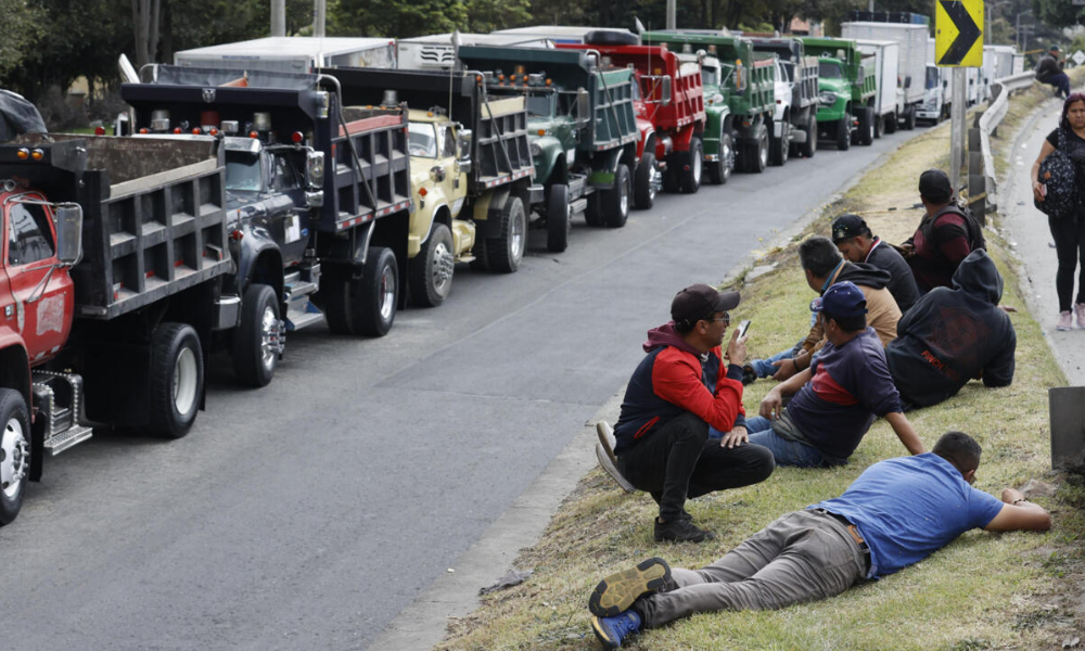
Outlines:
{"label": "tall white box truck left of the yellow sign, behind a smaller box", "polygon": [[923,103],[927,79],[927,25],[914,23],[841,23],[843,38],[868,41],[896,41],[898,86],[904,91],[904,107],[897,120],[905,129],[916,128],[916,111]]}

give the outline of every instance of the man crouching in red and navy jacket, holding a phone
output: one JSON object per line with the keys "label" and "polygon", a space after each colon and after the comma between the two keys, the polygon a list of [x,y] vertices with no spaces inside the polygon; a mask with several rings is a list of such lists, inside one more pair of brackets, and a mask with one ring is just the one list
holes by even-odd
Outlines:
{"label": "man crouching in red and navy jacket, holding a phone", "polygon": [[[773,454],[748,443],[742,409],[745,339],[720,344],[738,292],[694,284],[671,304],[673,321],[648,332],[648,354],[634,371],[614,425],[617,467],[660,505],[658,541],[700,542],[715,536],[686,512],[686,499],[756,484],[775,468]],[[726,432],[709,439],[709,425]]]}

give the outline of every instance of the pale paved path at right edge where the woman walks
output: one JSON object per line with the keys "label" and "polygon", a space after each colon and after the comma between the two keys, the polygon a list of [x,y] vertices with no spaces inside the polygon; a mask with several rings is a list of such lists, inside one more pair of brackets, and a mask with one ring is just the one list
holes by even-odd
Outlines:
{"label": "pale paved path at right edge where the woman walks", "polygon": [[[999,212],[1006,215],[1004,228],[1014,253],[1024,265],[1022,284],[1030,311],[1044,329],[1070,385],[1081,386],[1085,385],[1085,346],[1082,346],[1085,332],[1059,332],[1055,329],[1059,320],[1059,297],[1055,292],[1058,256],[1047,215],[1033,205],[1032,196],[1032,164],[1039,155],[1044,138],[1059,124],[1061,112],[1062,100],[1050,99],[1022,126],[1007,156],[1010,171],[999,189],[998,200]],[[1075,286],[1072,301],[1076,291]]]}

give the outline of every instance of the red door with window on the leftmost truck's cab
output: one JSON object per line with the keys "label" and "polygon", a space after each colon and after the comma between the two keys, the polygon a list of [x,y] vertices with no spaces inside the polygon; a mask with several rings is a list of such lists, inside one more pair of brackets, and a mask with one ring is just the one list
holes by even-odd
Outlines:
{"label": "red door with window on the leftmost truck's cab", "polygon": [[[23,199],[44,201],[33,194]],[[3,307],[4,320],[22,333],[33,365],[53,356],[67,339],[74,310],[72,280],[56,266],[49,206],[8,201],[4,217],[4,260],[14,301]]]}

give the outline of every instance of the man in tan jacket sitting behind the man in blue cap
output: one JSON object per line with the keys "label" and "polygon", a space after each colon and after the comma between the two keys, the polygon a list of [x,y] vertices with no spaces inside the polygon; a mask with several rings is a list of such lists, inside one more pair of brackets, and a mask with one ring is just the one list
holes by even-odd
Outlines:
{"label": "man in tan jacket sitting behind the man in blue cap", "polygon": [[[838,282],[851,281],[867,299],[867,326],[873,328],[882,345],[896,339],[896,322],[901,308],[889,291],[889,271],[865,263],[850,263],[841,256],[832,240],[820,235],[809,238],[799,245],[799,260],[806,276],[806,284],[820,295]],[[809,368],[814,356],[825,345],[825,329],[815,321],[799,350],[789,358],[777,356],[774,379],[783,381]],[[757,369],[757,360],[753,362]],[[758,374],[761,374],[758,372]]]}

